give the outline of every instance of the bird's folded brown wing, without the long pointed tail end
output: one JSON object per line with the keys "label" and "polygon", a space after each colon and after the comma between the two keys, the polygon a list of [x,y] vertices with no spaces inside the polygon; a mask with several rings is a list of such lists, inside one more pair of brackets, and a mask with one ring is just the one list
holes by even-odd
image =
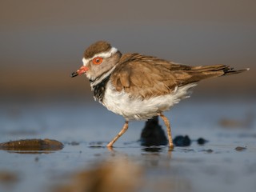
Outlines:
{"label": "bird's folded brown wing, without the long pointed tail end", "polygon": [[125,54],[111,75],[111,82],[118,91],[150,98],[170,94],[181,84],[181,78],[188,78],[189,74],[182,72],[186,69],[190,67],[141,54]]}

